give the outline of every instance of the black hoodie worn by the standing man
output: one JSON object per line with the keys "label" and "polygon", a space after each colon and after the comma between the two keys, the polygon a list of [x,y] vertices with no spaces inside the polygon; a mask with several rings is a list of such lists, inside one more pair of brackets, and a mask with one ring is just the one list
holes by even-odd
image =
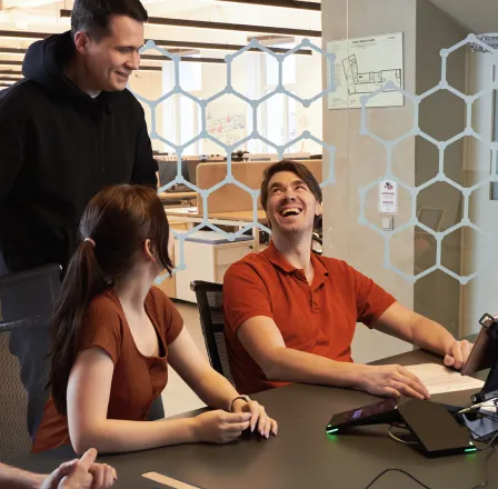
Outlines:
{"label": "black hoodie worn by the standing man", "polygon": [[66,267],[104,187],[157,184],[142,107],[128,90],[83,93],[63,74],[73,50],[70,32],[31,44],[26,79],[0,92],[0,261],[10,271]]}

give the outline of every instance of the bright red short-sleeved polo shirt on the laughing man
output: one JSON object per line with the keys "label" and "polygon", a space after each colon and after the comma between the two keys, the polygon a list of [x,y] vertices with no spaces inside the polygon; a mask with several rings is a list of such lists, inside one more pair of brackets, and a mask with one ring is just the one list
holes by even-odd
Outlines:
{"label": "bright red short-sleeved polo shirt on the laughing man", "polygon": [[250,318],[266,316],[287,348],[338,361],[352,361],[357,322],[370,327],[396,299],[348,263],[311,253],[311,286],[273,242],[233,263],[223,279],[225,335],[230,369],[239,392],[252,393],[285,382],[267,380],[237,338]]}

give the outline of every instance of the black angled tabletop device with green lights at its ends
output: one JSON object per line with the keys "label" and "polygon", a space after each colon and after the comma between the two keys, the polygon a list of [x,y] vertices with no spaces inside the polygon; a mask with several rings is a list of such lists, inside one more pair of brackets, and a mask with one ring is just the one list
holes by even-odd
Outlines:
{"label": "black angled tabletop device with green lights at its ends", "polygon": [[449,412],[449,407],[418,399],[387,399],[362,408],[333,415],[327,435],[342,435],[369,425],[404,423],[415,436],[414,445],[426,457],[444,457],[477,451],[468,430]]}

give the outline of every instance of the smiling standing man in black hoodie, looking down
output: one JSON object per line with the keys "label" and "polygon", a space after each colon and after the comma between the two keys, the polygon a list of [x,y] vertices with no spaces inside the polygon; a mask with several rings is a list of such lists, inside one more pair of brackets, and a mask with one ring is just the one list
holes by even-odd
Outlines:
{"label": "smiling standing man in black hoodie, looking down", "polygon": [[[76,0],[71,31],[31,44],[26,79],[1,92],[0,275],[64,268],[97,192],[114,183],[157,187],[143,109],[126,90],[147,19],[139,0]],[[10,349],[22,366],[34,436],[47,398],[47,329],[11,333]]]}

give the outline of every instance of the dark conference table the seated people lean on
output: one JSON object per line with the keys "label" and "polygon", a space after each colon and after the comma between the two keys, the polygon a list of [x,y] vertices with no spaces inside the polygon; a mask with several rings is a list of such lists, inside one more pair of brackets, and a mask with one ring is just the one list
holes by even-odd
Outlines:
{"label": "dark conference table the seated people lean on", "polygon": [[[421,350],[376,363],[417,365],[440,362]],[[432,396],[432,401],[469,405],[472,391]],[[379,398],[349,389],[291,385],[252,396],[279,422],[277,437],[242,436],[228,445],[195,443],[126,455],[99,456],[116,467],[116,488],[168,488],[141,477],[158,472],[203,489],[365,489],[386,469],[402,469],[430,489],[470,489],[488,477],[488,488],[498,487],[498,455],[486,463],[489,450],[428,459],[412,446],[388,437],[387,426],[357,428],[327,436],[330,417]],[[167,400],[166,400],[167,402]],[[200,412],[192,411],[188,416]],[[182,415],[186,416],[186,415]],[[29,456],[18,466],[48,472],[73,458],[70,447]],[[418,483],[399,472],[389,472],[372,489],[416,489]]]}

